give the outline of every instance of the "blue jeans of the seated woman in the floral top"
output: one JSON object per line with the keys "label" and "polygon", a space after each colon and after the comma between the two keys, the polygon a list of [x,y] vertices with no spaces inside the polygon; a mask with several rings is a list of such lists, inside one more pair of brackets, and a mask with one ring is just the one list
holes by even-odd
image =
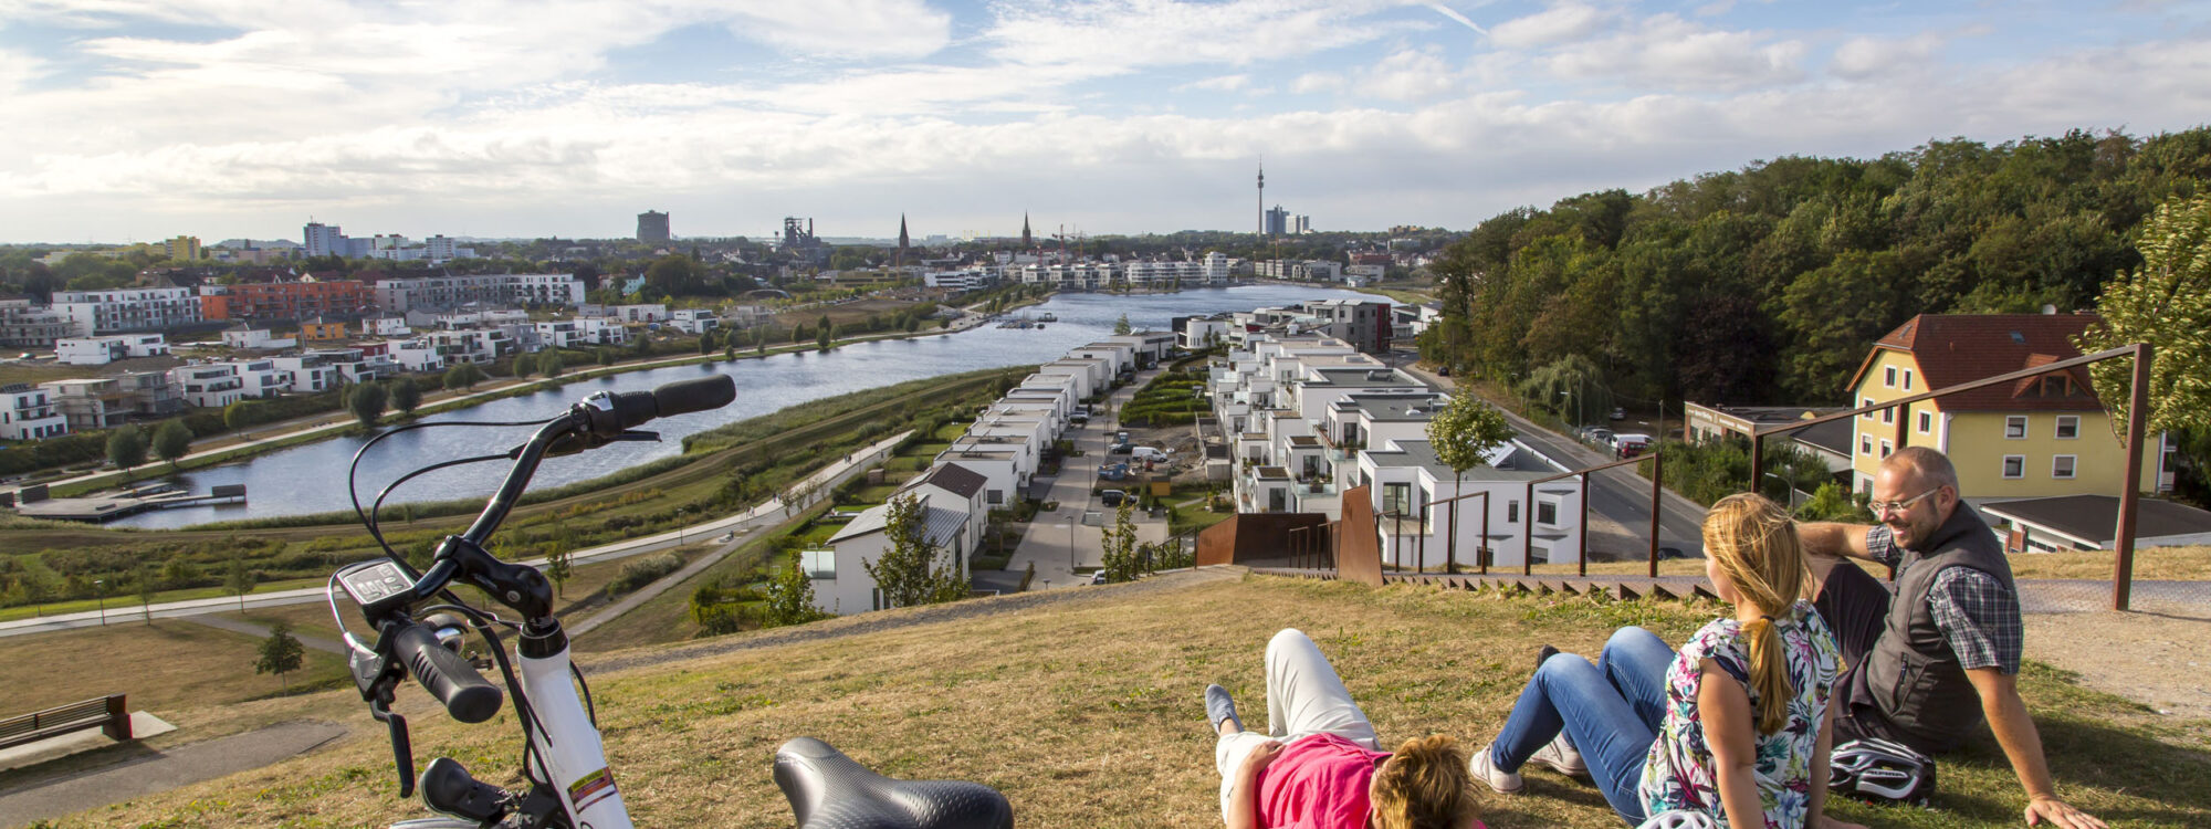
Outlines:
{"label": "blue jeans of the seated woman in the floral top", "polygon": [[1614,632],[1596,665],[1574,654],[1545,659],[1490,743],[1490,760],[1501,772],[1519,772],[1563,730],[1590,763],[1590,778],[1612,811],[1630,825],[1643,822],[1636,787],[1665,721],[1665,672],[1672,663],[1674,650],[1643,628]]}

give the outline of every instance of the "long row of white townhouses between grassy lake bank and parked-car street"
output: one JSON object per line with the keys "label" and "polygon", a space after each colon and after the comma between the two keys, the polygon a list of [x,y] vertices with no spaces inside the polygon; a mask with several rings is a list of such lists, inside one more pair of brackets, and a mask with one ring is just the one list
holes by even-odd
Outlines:
{"label": "long row of white townhouses between grassy lake bank and parked-car street", "polygon": [[[893,500],[915,497],[926,539],[953,559],[962,579],[971,577],[968,562],[982,548],[991,511],[1010,508],[1021,497],[1070,418],[1123,374],[1156,365],[1172,345],[1172,334],[1139,332],[1075,347],[1037,367],[984,407],[968,431],[940,451],[922,475],[900,486]],[[887,520],[887,504],[871,506],[822,548],[800,553],[800,566],[814,579],[816,608],[849,615],[884,606],[867,564],[891,546]]]}

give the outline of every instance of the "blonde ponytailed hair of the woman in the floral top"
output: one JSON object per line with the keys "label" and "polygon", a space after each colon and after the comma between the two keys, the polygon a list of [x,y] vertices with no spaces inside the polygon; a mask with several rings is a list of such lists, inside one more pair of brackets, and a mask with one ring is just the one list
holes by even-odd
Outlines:
{"label": "blonde ponytailed hair of the woman in the floral top", "polygon": [[1789,612],[1804,597],[1804,579],[1811,577],[1795,522],[1764,495],[1722,497],[1705,515],[1705,555],[1727,573],[1742,601],[1762,615],[1742,626],[1742,639],[1749,643],[1751,688],[1758,690],[1758,734],[1780,732],[1789,725],[1795,685],[1789,681],[1789,659],[1773,615]]}

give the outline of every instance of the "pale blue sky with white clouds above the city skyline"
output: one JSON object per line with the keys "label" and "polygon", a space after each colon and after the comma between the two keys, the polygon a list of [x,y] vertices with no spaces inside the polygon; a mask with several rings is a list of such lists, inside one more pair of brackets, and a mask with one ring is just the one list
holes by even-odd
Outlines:
{"label": "pale blue sky with white clouds above the city skyline", "polygon": [[2211,2],[0,0],[0,243],[1473,228],[2211,122]]}

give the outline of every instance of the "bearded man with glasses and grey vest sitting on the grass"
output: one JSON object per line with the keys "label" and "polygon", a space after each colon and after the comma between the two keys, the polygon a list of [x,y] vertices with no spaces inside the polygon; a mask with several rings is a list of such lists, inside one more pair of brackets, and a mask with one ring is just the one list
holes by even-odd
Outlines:
{"label": "bearded man with glasses and grey vest sitting on the grass", "polygon": [[[1957,493],[1957,466],[1906,447],[1873,475],[1879,526],[1800,524],[1820,615],[1848,665],[1837,679],[1835,743],[1886,738],[1921,754],[1957,749],[1988,718],[2027,789],[2030,825],[2103,829],[2056,798],[2041,736],[2019,699],[2025,634],[2003,546]],[[1842,557],[1895,573],[1895,592]]]}

